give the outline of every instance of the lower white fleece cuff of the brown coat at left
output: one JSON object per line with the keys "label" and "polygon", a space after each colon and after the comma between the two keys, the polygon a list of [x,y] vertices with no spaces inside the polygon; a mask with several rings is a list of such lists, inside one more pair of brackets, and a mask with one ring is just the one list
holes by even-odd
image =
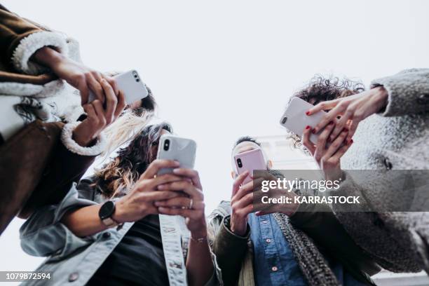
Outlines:
{"label": "lower white fleece cuff of the brown coat at left", "polygon": [[104,151],[106,148],[107,142],[103,135],[103,133],[100,134],[100,136],[97,139],[97,143],[92,147],[82,147],[81,145],[77,144],[76,141],[72,138],[73,136],[73,130],[76,128],[77,125],[79,125],[80,122],[76,121],[73,123],[67,123],[62,128],[61,133],[61,142],[64,144],[64,146],[69,149],[69,151],[81,155],[81,156],[97,156]]}

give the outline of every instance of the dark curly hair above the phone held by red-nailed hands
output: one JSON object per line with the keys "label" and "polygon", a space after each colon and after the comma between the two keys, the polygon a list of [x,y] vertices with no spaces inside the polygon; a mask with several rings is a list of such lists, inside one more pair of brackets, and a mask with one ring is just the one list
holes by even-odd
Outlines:
{"label": "dark curly hair above the phone held by red-nailed hands", "polygon": [[[313,105],[328,100],[336,100],[341,97],[348,97],[356,93],[362,93],[365,86],[360,81],[352,81],[338,76],[324,77],[320,74],[313,76],[306,86],[294,93],[290,100],[299,97],[301,100],[310,102]],[[301,137],[290,133],[290,138],[294,142],[294,147],[301,147]]]}

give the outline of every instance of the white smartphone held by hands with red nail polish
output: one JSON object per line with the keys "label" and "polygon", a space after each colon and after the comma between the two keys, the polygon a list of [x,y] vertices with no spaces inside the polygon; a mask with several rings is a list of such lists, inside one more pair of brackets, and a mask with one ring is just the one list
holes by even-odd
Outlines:
{"label": "white smartphone held by hands with red nail polish", "polygon": [[[308,103],[305,100],[301,100],[299,97],[292,98],[285,113],[282,118],[280,118],[280,124],[290,132],[301,136],[307,125],[314,128],[326,114],[325,111],[318,111],[311,116],[306,115],[306,111],[312,107],[314,107],[313,104]],[[316,144],[318,136],[319,134],[311,133],[310,141]]]}

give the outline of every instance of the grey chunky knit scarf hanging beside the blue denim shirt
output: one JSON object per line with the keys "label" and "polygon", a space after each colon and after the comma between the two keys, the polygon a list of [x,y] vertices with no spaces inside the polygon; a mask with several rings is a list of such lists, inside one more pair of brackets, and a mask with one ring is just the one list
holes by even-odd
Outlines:
{"label": "grey chunky knit scarf hanging beside the blue denim shirt", "polygon": [[338,286],[338,280],[311,238],[303,231],[295,229],[285,214],[275,213],[273,216],[289,243],[308,285]]}

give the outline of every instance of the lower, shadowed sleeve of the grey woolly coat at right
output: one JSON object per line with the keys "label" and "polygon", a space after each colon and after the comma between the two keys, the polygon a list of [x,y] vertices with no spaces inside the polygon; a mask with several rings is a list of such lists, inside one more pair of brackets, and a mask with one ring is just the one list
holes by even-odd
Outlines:
{"label": "lower, shadowed sleeve of the grey woolly coat at right", "polygon": [[377,264],[393,272],[421,271],[421,261],[410,238],[408,213],[372,211],[383,207],[377,205],[382,201],[376,200],[378,194],[383,193],[379,198],[388,198],[386,189],[375,184],[386,184],[386,188],[390,189],[388,175],[374,176],[381,177],[383,182],[366,176],[362,180],[366,180],[367,184],[362,184],[362,180],[346,172],[346,179],[333,194],[359,196],[360,205],[352,209],[350,205],[333,203],[332,210],[355,243],[369,253]]}

